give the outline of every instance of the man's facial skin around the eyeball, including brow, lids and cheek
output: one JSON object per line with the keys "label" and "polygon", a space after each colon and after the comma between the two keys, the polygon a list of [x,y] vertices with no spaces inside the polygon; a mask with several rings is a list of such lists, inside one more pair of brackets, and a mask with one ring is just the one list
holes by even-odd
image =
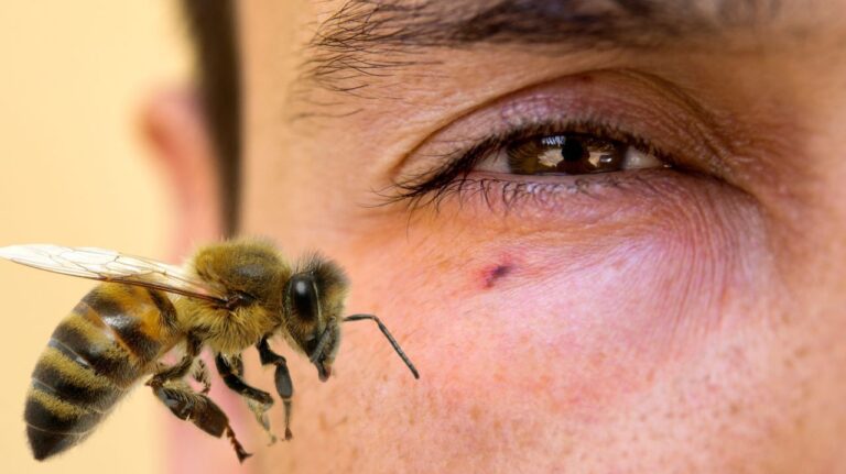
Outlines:
{"label": "man's facial skin around the eyeball, including brow, lids and cheek", "polygon": [[[240,233],[336,260],[421,373],[345,327],[246,469],[846,470],[846,2],[811,3],[240,3]],[[509,173],[556,134],[662,165]],[[216,441],[177,465],[235,472]]]}

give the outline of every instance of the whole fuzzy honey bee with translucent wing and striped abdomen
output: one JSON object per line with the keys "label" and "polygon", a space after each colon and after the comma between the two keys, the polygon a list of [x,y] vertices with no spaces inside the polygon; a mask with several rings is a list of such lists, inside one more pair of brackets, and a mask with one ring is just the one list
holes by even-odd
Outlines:
{"label": "whole fuzzy honey bee with translucent wing and striped abdomen", "polygon": [[[290,265],[270,243],[234,240],[199,249],[183,266],[93,247],[12,245],[0,257],[50,272],[101,280],[65,317],[41,354],[26,395],[24,419],[36,460],[85,440],[137,382],[148,377],[180,419],[229,439],[239,461],[251,454],[226,414],[208,397],[209,376],[198,355],[215,354],[227,387],[246,400],[271,437],[273,398],[243,379],[241,352],[254,346],[262,365],[275,366],[291,439],[293,384],[285,357],[269,339],[281,334],[305,354],[325,382],[340,343],[340,323],[375,321],[415,378],[420,375],[386,326],[372,315],[343,317],[348,280],[334,262],[311,255]],[[162,357],[184,348],[178,362]],[[188,375],[203,384],[199,390]]]}

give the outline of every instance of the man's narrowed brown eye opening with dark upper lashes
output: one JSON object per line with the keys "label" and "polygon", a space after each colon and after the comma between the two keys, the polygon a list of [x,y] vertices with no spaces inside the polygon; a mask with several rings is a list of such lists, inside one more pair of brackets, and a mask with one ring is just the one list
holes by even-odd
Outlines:
{"label": "man's narrowed brown eye opening with dark upper lashes", "polygon": [[545,124],[482,140],[441,168],[399,183],[394,199],[420,206],[474,192],[490,202],[488,194],[505,186],[508,203],[514,205],[513,198],[527,192],[584,190],[620,183],[620,173],[670,168],[670,159],[661,156],[648,142],[601,125]]}

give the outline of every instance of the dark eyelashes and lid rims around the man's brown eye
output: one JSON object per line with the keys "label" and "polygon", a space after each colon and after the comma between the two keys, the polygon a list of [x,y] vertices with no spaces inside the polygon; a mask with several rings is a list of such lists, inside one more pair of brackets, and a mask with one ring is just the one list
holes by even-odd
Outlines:
{"label": "dark eyelashes and lid rims around the man's brown eye", "polygon": [[444,165],[432,172],[403,178],[391,186],[391,194],[383,194],[382,196],[387,199],[388,203],[405,202],[412,210],[429,206],[437,209],[447,198],[458,197],[463,199],[467,195],[479,196],[485,202],[490,203],[491,198],[495,197],[492,192],[496,189],[499,191],[499,196],[496,196],[496,198],[506,205],[508,209],[518,203],[522,198],[543,198],[544,195],[562,191],[582,192],[587,185],[619,186],[619,175],[627,172],[572,175],[577,177],[577,179],[571,183],[517,181],[502,178],[468,177],[477,165],[495,156],[497,152],[505,150],[510,144],[521,140],[556,134],[584,134],[601,140],[616,141],[653,154],[668,168],[674,168],[677,164],[677,161],[672,155],[654,146],[651,142],[614,126],[589,121],[570,122],[564,125],[560,123],[541,123],[506,131],[500,134],[492,134],[469,148],[447,153],[444,155]]}

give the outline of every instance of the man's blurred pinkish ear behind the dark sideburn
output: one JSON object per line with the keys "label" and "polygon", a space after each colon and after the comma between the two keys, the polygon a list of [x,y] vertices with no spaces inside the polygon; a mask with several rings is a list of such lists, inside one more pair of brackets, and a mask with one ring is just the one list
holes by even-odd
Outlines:
{"label": "man's blurred pinkish ear behind the dark sideburn", "polygon": [[152,96],[143,107],[141,130],[160,164],[175,201],[173,257],[223,234],[221,202],[214,145],[193,89]]}

